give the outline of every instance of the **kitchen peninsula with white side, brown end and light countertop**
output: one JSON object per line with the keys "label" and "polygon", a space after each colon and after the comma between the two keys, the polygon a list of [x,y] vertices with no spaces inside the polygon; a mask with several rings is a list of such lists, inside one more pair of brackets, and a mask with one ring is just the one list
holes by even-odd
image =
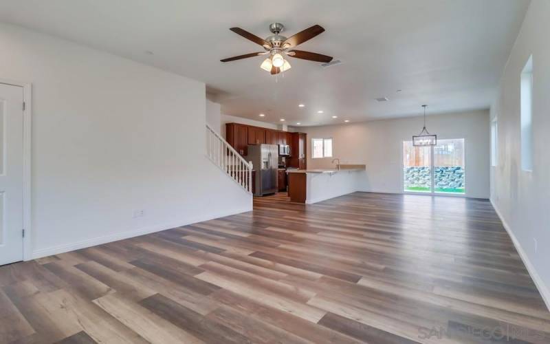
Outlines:
{"label": "kitchen peninsula with white side, brown end and light countertop", "polygon": [[288,170],[292,202],[313,204],[365,189],[366,166],[340,164],[337,169]]}

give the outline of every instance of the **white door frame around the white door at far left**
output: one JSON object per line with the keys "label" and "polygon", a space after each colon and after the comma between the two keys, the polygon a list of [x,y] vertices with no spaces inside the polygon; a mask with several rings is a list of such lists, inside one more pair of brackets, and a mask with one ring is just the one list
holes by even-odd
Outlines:
{"label": "white door frame around the white door at far left", "polygon": [[5,85],[23,87],[23,261],[32,259],[32,222],[31,222],[31,162],[32,162],[32,83],[0,78]]}

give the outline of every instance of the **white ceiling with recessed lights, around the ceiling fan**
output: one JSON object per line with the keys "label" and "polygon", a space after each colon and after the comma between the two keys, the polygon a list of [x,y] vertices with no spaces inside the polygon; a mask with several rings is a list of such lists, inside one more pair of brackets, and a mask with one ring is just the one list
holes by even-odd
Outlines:
{"label": "white ceiling with recessed lights, around the ceiling fan", "polygon": [[[3,0],[0,21],[202,80],[224,114],[326,125],[410,116],[420,113],[421,104],[432,113],[489,107],[528,5],[529,0]],[[285,36],[321,25],[327,31],[298,49],[334,56],[342,65],[322,69],[289,58],[292,69],[275,78],[259,68],[262,56],[219,62],[262,50],[229,28],[265,38],[274,21],[285,25]],[[384,96],[388,102],[376,102]],[[299,109],[299,103],[306,107]]]}

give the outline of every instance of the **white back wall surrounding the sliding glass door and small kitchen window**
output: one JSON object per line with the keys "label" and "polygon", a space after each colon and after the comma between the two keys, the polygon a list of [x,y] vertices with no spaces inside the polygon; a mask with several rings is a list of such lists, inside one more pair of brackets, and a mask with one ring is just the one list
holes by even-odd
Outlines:
{"label": "white back wall surrounding the sliding glass door and small kitchen window", "polygon": [[[428,116],[428,130],[437,138],[465,138],[466,196],[489,197],[489,113],[487,110]],[[308,169],[342,164],[366,164],[366,190],[400,193],[402,189],[402,142],[412,140],[422,128],[421,117],[303,127],[307,133]],[[311,138],[333,138],[333,158],[312,159]]]}

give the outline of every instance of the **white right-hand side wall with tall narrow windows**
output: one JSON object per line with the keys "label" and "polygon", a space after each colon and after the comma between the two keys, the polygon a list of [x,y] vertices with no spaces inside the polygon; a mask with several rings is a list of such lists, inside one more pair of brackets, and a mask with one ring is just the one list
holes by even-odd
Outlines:
{"label": "white right-hand side wall with tall narrow windows", "polygon": [[[550,308],[550,1],[533,0],[491,107],[498,121],[498,166],[491,200]],[[533,171],[521,169],[520,74],[533,55]],[[535,240],[538,243],[536,251]]]}

